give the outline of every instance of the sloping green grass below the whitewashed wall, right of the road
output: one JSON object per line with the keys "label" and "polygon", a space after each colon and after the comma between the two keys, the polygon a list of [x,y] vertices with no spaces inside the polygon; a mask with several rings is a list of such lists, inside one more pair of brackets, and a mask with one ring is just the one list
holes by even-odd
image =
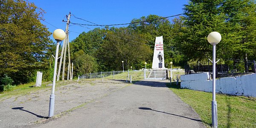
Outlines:
{"label": "sloping green grass below the whitewashed wall, right of the road", "polygon": [[[210,128],[212,125],[212,93],[180,89],[176,82],[167,86],[186,102],[201,117],[202,122]],[[256,98],[245,96],[228,96],[217,94],[218,128],[256,128]]]}

